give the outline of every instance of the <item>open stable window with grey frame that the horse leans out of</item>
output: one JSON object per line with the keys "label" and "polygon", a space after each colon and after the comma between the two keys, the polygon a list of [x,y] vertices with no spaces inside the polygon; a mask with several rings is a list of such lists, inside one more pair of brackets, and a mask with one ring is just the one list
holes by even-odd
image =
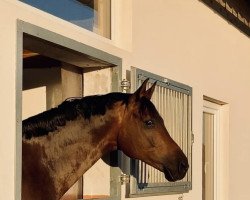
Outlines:
{"label": "open stable window with grey frame that the horse leans out of", "polygon": [[[69,97],[119,91],[120,58],[25,22],[19,21],[18,28],[17,102],[22,102],[18,118],[48,110]],[[16,188],[21,188],[21,123],[17,123]],[[119,199],[117,157],[112,152],[100,159],[62,199]]]}

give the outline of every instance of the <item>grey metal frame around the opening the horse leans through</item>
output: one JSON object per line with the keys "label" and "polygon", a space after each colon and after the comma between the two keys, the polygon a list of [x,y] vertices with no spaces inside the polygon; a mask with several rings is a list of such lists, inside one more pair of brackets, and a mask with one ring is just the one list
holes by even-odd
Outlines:
{"label": "grey metal frame around the opening the horse leans through", "polygon": [[[112,91],[121,91],[119,83],[122,79],[122,58],[92,46],[80,43],[63,35],[57,34],[39,26],[17,20],[16,34],[16,140],[15,140],[15,199],[21,200],[22,185],[22,85],[23,85],[23,44],[26,36],[35,37],[51,44],[62,46],[73,51],[94,57],[98,60],[112,64]],[[117,179],[121,174],[119,168],[118,152],[110,154],[110,197],[106,200],[121,198],[121,183]],[[104,199],[99,199],[104,200]]]}

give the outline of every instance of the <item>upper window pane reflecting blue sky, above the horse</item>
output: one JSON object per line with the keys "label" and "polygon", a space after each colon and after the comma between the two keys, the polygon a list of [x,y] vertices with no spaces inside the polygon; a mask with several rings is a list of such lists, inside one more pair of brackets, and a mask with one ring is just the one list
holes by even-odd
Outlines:
{"label": "upper window pane reflecting blue sky, above the horse", "polygon": [[20,0],[106,38],[111,38],[111,0]]}

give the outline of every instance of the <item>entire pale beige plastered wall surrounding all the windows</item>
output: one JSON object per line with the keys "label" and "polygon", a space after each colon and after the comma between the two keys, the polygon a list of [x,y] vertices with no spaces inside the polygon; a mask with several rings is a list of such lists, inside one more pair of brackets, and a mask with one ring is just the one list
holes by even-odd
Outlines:
{"label": "entire pale beige plastered wall surrounding all the windows", "polygon": [[15,199],[15,127],[20,122],[15,101],[20,87],[16,86],[17,19],[123,58],[124,77],[135,66],[193,87],[193,190],[184,199],[201,199],[203,95],[228,103],[229,189],[225,192],[229,200],[248,199],[249,38],[198,0],[116,0],[114,7],[110,41],[17,0],[0,1],[0,199]]}

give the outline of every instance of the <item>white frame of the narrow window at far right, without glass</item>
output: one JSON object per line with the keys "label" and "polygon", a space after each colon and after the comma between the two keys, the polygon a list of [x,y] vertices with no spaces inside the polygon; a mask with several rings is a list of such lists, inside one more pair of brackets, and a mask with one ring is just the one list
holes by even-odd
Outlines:
{"label": "white frame of the narrow window at far right, without glass", "polygon": [[229,199],[229,105],[204,97],[203,112],[214,115],[214,200]]}

